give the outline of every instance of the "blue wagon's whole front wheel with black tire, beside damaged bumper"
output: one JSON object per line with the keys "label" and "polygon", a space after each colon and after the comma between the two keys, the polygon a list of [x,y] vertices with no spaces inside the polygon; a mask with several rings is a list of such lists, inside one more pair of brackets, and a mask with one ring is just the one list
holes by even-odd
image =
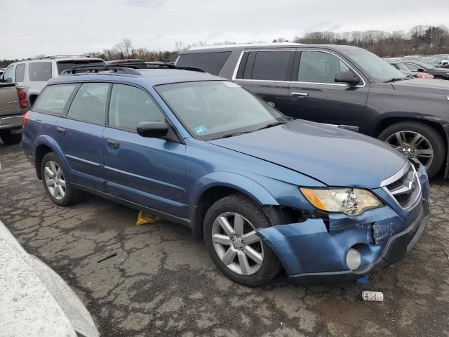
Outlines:
{"label": "blue wagon's whole front wheel with black tire, beside damaged bumper", "polygon": [[[241,230],[235,230],[232,235],[225,232],[224,227],[218,222],[220,216],[221,218],[228,217],[228,224],[231,224],[231,229],[233,230],[234,220],[242,218],[244,224],[242,226],[243,235],[239,237],[237,234],[242,232]],[[243,286],[261,286],[279,273],[281,264],[272,249],[262,242],[259,237],[255,236],[255,234],[251,236],[245,234],[255,230],[255,228],[269,226],[271,226],[269,219],[262,213],[262,210],[254,201],[243,194],[231,194],[216,201],[208,209],[203,223],[204,242],[215,265],[229,279]],[[222,234],[217,232],[217,228]],[[213,235],[214,240],[217,240],[217,237],[222,235],[222,237],[232,237],[234,241],[225,239],[227,244],[213,242]],[[247,242],[244,242],[244,239],[248,239]],[[254,251],[259,255],[255,255]],[[235,256],[230,263],[225,264],[223,260],[229,260],[226,257],[227,253],[229,253],[229,256],[235,253]],[[256,263],[255,260],[248,256],[260,256],[262,257],[262,262]],[[247,260],[248,263],[243,263],[241,259]]]}

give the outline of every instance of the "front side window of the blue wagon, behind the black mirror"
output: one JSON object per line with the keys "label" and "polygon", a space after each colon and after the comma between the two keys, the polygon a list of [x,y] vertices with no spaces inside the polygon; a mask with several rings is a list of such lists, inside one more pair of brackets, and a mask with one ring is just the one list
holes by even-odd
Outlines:
{"label": "front side window of the blue wagon, behind the black mirror", "polygon": [[109,125],[135,132],[141,121],[165,121],[165,118],[142,89],[114,84],[109,103]]}

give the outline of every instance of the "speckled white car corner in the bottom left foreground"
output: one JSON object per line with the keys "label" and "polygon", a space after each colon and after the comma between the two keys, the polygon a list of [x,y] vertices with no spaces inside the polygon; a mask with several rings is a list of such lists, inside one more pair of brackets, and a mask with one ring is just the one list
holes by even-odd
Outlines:
{"label": "speckled white car corner in the bottom left foreground", "polygon": [[100,336],[76,293],[0,221],[0,336]]}

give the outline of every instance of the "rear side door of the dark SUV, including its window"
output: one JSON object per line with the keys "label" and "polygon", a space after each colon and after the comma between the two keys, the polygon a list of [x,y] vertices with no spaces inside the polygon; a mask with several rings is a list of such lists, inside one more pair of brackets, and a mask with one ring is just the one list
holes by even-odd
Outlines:
{"label": "rear side door of the dark SUV, including its window", "polygon": [[243,51],[233,80],[285,112],[294,57],[294,49]]}

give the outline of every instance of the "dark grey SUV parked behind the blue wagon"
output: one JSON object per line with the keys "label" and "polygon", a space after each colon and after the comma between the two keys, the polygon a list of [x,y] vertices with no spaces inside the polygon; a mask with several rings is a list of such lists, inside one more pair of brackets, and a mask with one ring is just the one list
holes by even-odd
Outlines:
{"label": "dark grey SUV parked behind the blue wagon", "polygon": [[[358,131],[448,177],[449,82],[402,74],[354,46],[246,44],[182,51],[199,67],[247,88],[290,117]],[[347,149],[351,151],[351,149]]]}

